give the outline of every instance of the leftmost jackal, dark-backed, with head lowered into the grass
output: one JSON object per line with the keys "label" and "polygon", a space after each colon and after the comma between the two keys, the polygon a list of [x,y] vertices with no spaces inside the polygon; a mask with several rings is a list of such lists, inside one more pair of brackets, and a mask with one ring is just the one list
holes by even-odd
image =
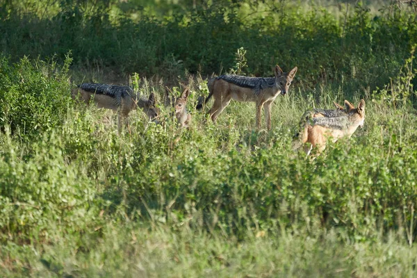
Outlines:
{"label": "leftmost jackal, dark-backed, with head lowered into the grass", "polygon": [[99,108],[108,108],[117,111],[119,129],[120,114],[126,119],[133,109],[141,108],[147,117],[158,122],[159,109],[155,107],[155,95],[152,92],[149,98],[140,97],[129,86],[107,85],[99,83],[83,83],[72,89],[72,97],[90,104],[92,99]]}

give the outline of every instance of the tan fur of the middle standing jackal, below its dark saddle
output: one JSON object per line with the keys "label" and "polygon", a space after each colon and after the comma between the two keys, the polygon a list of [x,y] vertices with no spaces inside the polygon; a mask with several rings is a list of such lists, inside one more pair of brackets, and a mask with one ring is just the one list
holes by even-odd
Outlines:
{"label": "tan fur of the middle standing jackal, below its dark saddle", "polygon": [[[275,66],[275,86],[259,91],[259,94],[254,94],[252,88],[243,88],[234,83],[229,83],[223,79],[211,79],[208,83],[208,90],[214,97],[213,107],[208,111],[211,120],[215,122],[217,117],[226,108],[231,99],[236,101],[253,101],[256,103],[256,127],[261,128],[261,111],[265,110],[265,122],[267,129],[271,129],[271,104],[283,91],[282,95],[288,92],[291,81],[297,72],[297,67],[294,67],[291,72],[284,73],[281,68]],[[282,87],[281,87],[282,86]],[[284,89],[284,90],[283,90]]]}

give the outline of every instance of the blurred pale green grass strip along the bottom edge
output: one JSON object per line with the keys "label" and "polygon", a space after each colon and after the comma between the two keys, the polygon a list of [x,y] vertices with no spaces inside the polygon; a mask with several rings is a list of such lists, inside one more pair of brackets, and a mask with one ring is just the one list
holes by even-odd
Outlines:
{"label": "blurred pale green grass strip along the bottom edge", "polygon": [[[44,248],[8,244],[8,277],[414,277],[416,248],[391,235],[377,242],[340,243],[335,229],[271,231],[244,241],[181,227],[99,227],[101,240],[66,236]],[[313,228],[314,229],[314,228]],[[306,235],[309,236],[306,236]],[[88,250],[80,250],[79,245]],[[10,251],[11,250],[11,251]],[[14,265],[12,272],[10,266]]]}

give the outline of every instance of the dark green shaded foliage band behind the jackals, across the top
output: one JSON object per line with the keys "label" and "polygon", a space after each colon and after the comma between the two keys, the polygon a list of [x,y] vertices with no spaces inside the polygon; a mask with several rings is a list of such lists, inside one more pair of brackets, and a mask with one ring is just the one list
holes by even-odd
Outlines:
{"label": "dark green shaded foliage band behind the jackals, across the top", "polygon": [[[284,70],[297,65],[297,79],[310,88],[325,79],[372,91],[395,76],[417,43],[416,14],[396,6],[375,15],[359,2],[336,17],[320,6],[306,10],[291,1],[279,6],[224,1],[163,18],[143,11],[133,21],[122,10],[110,13],[117,10],[110,2],[83,3],[63,1],[50,17],[22,13],[10,4],[8,17],[1,19],[1,49],[13,59],[64,58],[72,50],[77,67],[114,67],[141,76],[164,74],[171,61],[181,61],[171,74],[176,78],[184,70],[212,74],[230,69],[236,49],[243,47],[247,74],[272,76],[276,63]],[[265,10],[268,3],[272,8]]]}

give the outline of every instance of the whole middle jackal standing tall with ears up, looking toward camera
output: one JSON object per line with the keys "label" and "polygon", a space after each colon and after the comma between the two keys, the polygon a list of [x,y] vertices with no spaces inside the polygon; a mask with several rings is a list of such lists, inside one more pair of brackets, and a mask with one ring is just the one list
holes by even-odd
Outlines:
{"label": "whole middle jackal standing tall with ears up, looking toward camera", "polygon": [[[278,95],[286,95],[288,88],[293,81],[297,67],[286,73],[281,70],[279,65],[275,66],[275,77],[247,77],[240,75],[225,74],[215,77],[208,81],[208,99],[214,97],[213,107],[208,111],[211,120],[216,118],[231,99],[236,101],[254,101],[256,103],[256,127],[261,128],[261,111],[265,110],[265,122],[267,129],[271,129],[271,104]],[[202,108],[202,104],[197,105],[197,109]]]}

